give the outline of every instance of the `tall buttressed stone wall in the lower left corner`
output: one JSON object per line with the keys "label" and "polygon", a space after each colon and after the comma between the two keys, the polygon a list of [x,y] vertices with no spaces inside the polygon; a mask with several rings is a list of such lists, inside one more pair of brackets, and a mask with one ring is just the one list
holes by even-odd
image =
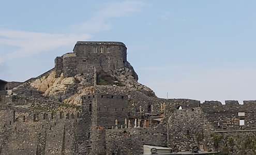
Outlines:
{"label": "tall buttressed stone wall in the lower left corner", "polygon": [[0,114],[1,154],[71,154],[74,150],[77,115],[13,110],[2,110]]}

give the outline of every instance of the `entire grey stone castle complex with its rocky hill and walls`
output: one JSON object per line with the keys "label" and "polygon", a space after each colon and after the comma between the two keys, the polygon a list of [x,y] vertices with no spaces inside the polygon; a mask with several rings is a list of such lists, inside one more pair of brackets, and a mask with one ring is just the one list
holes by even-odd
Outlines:
{"label": "entire grey stone castle complex with its rocky hill and walls", "polygon": [[143,154],[143,146],[254,154],[256,101],[160,99],[122,42],[78,41],[25,82],[0,80],[0,154]]}

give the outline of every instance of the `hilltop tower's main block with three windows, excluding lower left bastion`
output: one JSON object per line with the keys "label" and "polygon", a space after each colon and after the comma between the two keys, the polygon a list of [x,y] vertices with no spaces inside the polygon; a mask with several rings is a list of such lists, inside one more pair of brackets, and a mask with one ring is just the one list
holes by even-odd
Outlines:
{"label": "hilltop tower's main block with three windows, excluding lower left bastion", "polygon": [[92,73],[94,67],[104,71],[124,68],[126,50],[125,45],[118,42],[78,42],[73,50],[77,55],[77,73]]}

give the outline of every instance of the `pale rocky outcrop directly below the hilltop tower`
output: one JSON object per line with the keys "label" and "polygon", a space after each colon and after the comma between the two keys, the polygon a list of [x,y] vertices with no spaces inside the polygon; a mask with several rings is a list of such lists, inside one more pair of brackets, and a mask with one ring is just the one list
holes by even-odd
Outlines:
{"label": "pale rocky outcrop directly below the hilltop tower", "polygon": [[97,79],[94,74],[77,74],[74,77],[64,77],[62,73],[56,78],[53,70],[50,74],[40,77],[31,83],[24,83],[13,89],[15,94],[34,98],[58,100],[61,97],[64,103],[81,105],[81,97],[94,93],[94,83],[97,85],[111,85],[122,87],[130,91],[141,91],[147,96],[156,97],[153,90],[138,83],[138,75],[133,67],[122,68],[110,72],[100,70]]}

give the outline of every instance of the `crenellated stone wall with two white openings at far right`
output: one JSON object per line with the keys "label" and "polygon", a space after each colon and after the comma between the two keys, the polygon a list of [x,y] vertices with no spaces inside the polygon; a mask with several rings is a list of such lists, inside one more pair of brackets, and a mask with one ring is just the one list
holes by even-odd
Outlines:
{"label": "crenellated stone wall with two white openings at far right", "polygon": [[[215,129],[218,129],[218,122],[223,130],[256,129],[255,103],[256,101],[244,101],[244,104],[225,101],[225,104],[221,104],[218,101],[205,101],[201,107]],[[244,120],[245,126],[239,126],[239,120]]]}

